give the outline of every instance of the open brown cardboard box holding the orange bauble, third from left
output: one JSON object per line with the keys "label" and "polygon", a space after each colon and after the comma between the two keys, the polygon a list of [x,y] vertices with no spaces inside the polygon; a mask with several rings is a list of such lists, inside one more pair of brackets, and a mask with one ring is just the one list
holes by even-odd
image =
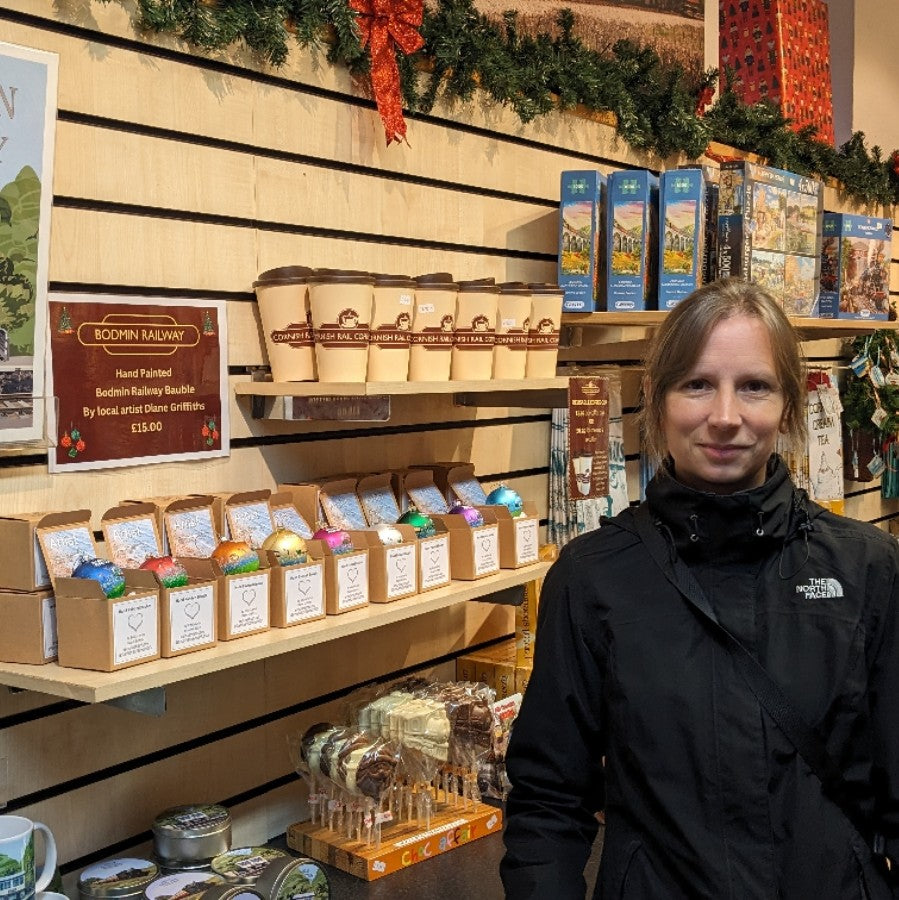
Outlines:
{"label": "open brown cardboard box holding the orange bauble, third from left", "polygon": [[260,558],[255,572],[225,575],[214,559],[181,558],[188,575],[217,584],[217,633],[220,641],[233,641],[268,631],[271,622],[270,578],[267,560]]}

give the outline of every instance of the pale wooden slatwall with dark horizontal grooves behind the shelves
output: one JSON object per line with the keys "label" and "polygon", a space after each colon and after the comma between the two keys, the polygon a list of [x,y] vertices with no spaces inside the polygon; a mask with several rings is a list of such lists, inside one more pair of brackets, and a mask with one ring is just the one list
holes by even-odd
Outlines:
{"label": "pale wooden slatwall with dark horizontal grooves behind the shelves", "polygon": [[[252,293],[260,271],[552,281],[561,171],[682,161],[635,154],[598,122],[554,114],[525,126],[478,103],[411,117],[411,147],[387,148],[370,100],[323,56],[296,52],[279,70],[239,48],[197,56],[137,33],[135,6],[7,0],[0,10],[0,40],[60,58],[51,289],[223,299],[232,386],[265,363]],[[621,345],[616,358],[635,357]],[[638,381],[627,363],[632,496]],[[231,456],[202,465],[51,479],[40,456],[0,459],[0,509],[88,507],[96,527],[125,498],[456,459],[546,515],[549,410],[399,397],[390,422],[364,426],[259,422],[233,395],[230,410]],[[864,486],[851,503],[854,515],[883,515]],[[146,849],[153,816],[176,803],[227,802],[235,845],[257,843],[304,814],[289,737],[339,718],[355,686],[373,679],[416,668],[450,677],[456,655],[511,627],[507,607],[453,607],[179,683],[159,719],[0,688],[0,801],[54,830],[70,890],[87,862]]]}

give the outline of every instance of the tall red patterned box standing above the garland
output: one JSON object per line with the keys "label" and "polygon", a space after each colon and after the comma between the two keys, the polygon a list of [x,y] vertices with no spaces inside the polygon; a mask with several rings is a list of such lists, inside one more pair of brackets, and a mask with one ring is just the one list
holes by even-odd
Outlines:
{"label": "tall red patterned box standing above the garland", "polygon": [[824,0],[719,0],[721,87],[733,75],[737,96],[770,100],[800,130],[834,142],[830,30]]}

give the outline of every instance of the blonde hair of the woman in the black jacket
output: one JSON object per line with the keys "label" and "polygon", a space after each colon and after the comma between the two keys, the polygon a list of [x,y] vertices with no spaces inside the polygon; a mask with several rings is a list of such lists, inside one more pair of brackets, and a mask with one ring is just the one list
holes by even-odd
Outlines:
{"label": "blonde hair of the woman in the black jacket", "polygon": [[650,342],[644,362],[640,426],[644,446],[655,461],[668,453],[662,427],[668,391],[696,364],[712,329],[732,316],[751,316],[765,326],[784,397],[783,430],[794,445],[804,442],[806,389],[799,337],[780,304],[764,288],[726,278],[703,285],[678,303]]}

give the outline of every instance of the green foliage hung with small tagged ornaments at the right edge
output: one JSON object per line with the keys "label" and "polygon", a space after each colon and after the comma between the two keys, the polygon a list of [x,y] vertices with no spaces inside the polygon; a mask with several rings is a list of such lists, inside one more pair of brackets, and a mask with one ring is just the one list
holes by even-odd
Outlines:
{"label": "green foliage hung with small tagged ornaments at the right edge", "polygon": [[[899,344],[894,332],[875,331],[851,343],[842,395],[848,454],[857,480],[880,478],[881,496],[899,498]],[[870,442],[870,449],[868,444]],[[865,451],[868,451],[867,453]],[[870,456],[868,457],[868,453]],[[866,458],[862,471],[861,460]]]}

